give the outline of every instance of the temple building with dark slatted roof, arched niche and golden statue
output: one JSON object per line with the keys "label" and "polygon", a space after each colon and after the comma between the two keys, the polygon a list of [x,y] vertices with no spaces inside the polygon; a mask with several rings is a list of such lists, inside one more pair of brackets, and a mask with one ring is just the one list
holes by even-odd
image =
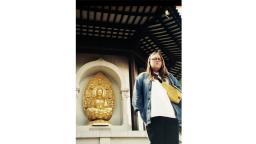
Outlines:
{"label": "temple building with dark slatted roof, arched niche and golden statue", "polygon": [[160,50],[181,82],[181,7],[76,6],[77,144],[147,144],[131,105],[136,76]]}

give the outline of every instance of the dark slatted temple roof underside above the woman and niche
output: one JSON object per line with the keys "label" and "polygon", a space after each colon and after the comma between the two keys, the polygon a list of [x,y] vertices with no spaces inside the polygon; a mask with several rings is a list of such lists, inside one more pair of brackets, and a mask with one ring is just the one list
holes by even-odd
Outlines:
{"label": "dark slatted temple roof underside above the woman and niche", "polygon": [[168,70],[181,79],[181,16],[175,6],[77,5],[76,17],[78,39],[133,43],[133,51],[140,52],[144,61],[151,52],[160,50]]}

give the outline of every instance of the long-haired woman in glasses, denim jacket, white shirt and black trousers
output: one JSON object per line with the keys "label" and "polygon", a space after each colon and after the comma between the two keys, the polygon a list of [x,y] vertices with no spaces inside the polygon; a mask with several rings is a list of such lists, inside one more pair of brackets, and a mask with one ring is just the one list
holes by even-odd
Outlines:
{"label": "long-haired woman in glasses, denim jacket, white shirt and black trousers", "polygon": [[178,80],[168,72],[160,52],[148,57],[147,70],[134,84],[132,105],[146,124],[151,144],[178,144],[181,103],[171,102],[161,83],[165,81],[181,89]]}

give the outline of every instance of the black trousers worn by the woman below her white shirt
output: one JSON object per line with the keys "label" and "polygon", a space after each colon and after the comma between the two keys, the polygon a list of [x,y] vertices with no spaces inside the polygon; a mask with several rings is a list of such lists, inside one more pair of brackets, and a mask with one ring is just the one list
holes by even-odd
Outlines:
{"label": "black trousers worn by the woman below her white shirt", "polygon": [[147,125],[150,144],[179,144],[178,120],[168,117],[153,117]]}

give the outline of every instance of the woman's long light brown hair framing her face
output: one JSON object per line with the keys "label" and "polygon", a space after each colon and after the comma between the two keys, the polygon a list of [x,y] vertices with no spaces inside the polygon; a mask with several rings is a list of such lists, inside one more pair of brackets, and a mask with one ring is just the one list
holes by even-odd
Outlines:
{"label": "woman's long light brown hair framing her face", "polygon": [[161,55],[161,53],[160,53],[159,50],[152,52],[152,53],[149,55],[149,57],[148,57],[147,70],[146,70],[146,72],[149,74],[148,78],[149,78],[150,80],[153,80],[153,79],[154,79],[153,70],[152,70],[151,65],[150,65],[150,59],[151,59],[151,57],[152,57],[153,55],[155,55],[155,54],[158,54],[158,55],[161,57],[162,66],[161,66],[161,68],[160,68],[160,70],[159,70],[159,75],[164,79],[164,78],[166,78],[166,77],[168,76],[168,73],[169,73],[169,72],[168,72],[168,70],[167,70],[167,68],[166,68],[166,66],[165,66],[165,62],[164,62],[163,56]]}

